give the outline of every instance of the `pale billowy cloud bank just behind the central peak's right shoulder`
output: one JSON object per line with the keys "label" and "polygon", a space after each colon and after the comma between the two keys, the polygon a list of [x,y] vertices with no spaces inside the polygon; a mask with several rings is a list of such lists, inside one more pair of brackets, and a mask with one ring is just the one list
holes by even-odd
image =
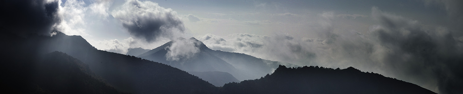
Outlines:
{"label": "pale billowy cloud bank just behind the central peak's right shoulder", "polygon": [[273,61],[299,63],[314,57],[314,54],[309,52],[311,47],[300,44],[301,39],[295,39],[286,33],[274,36],[237,33],[230,34],[226,38],[206,34],[199,40],[213,50],[245,53]]}

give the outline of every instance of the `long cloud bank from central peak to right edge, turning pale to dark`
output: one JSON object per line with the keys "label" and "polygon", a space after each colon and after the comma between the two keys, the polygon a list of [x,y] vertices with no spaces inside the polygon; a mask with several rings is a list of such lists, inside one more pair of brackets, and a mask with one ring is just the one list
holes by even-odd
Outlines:
{"label": "long cloud bank from central peak to right edge, turning pale to dark", "polygon": [[[354,66],[443,94],[463,92],[463,42],[445,27],[422,25],[371,9],[376,25],[368,32],[338,29],[332,12],[319,14],[318,38],[288,34],[263,36],[207,34],[198,38],[213,50],[245,53],[263,59],[331,68]],[[362,16],[366,17],[366,16]]]}

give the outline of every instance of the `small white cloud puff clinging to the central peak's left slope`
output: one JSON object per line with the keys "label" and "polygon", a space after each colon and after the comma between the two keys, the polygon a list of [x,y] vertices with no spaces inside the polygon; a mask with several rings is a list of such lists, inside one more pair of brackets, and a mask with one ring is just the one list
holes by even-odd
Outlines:
{"label": "small white cloud puff clinging to the central peak's left slope", "polygon": [[177,38],[172,41],[170,46],[164,48],[167,50],[166,60],[188,60],[200,52],[199,45],[200,42],[193,39]]}

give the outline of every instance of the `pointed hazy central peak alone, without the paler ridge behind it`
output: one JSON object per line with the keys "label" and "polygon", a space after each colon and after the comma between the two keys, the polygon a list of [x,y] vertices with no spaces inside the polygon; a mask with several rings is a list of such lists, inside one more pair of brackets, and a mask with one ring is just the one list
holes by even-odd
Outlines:
{"label": "pointed hazy central peak alone, without the paler ridge behind it", "polygon": [[[197,48],[199,48],[200,52],[196,53],[194,57],[191,57],[192,59],[181,59],[178,61],[167,60],[166,54],[170,50],[168,46],[172,45],[173,42],[175,41],[200,42],[194,38],[190,38],[188,40],[185,38],[178,38],[178,40],[170,41],[166,44],[163,44],[160,47],[157,47],[153,50],[146,52],[146,53],[152,52],[152,54],[149,54],[149,55],[142,54],[139,57],[147,59],[147,60],[159,62],[159,63],[168,64],[172,67],[182,69],[185,71],[199,71],[199,72],[222,71],[222,72],[229,72],[231,74],[238,75],[237,74],[238,70],[235,69],[232,65],[208,53],[208,51],[211,49],[207,48],[206,45],[202,44],[202,42],[200,42],[200,44],[198,45],[194,45]],[[156,51],[156,52],[153,52],[153,51]],[[143,56],[143,55],[146,55],[146,56]]]}

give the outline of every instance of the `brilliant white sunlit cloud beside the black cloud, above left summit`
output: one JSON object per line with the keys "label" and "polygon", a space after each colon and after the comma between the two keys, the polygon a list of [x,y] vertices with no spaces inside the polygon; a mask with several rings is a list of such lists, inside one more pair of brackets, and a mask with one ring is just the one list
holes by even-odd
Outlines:
{"label": "brilliant white sunlit cloud beside the black cloud, above left summit", "polygon": [[89,31],[94,31],[94,28],[88,25],[108,22],[108,9],[112,2],[112,0],[95,0],[93,3],[86,4],[83,0],[67,0],[63,6],[60,6],[58,14],[61,21],[56,25],[56,29],[67,35],[92,37]]}

